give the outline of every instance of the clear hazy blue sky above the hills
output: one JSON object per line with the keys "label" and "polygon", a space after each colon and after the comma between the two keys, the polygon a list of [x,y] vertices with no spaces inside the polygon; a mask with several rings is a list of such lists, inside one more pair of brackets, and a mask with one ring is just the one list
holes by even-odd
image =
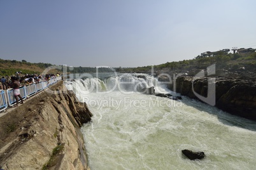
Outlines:
{"label": "clear hazy blue sky above the hills", "polygon": [[0,0],[0,58],[139,67],[256,48],[256,1]]}

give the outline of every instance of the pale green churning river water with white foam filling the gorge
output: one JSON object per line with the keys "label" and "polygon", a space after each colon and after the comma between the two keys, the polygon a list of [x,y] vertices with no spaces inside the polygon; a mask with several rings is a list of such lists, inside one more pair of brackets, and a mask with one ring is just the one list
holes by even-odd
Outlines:
{"label": "pale green churning river water with white foam filling the gorge", "polygon": [[[121,84],[118,77],[66,83],[94,115],[82,127],[90,169],[256,168],[255,122],[185,96],[175,101],[134,93],[136,83],[152,84],[138,77],[125,81],[135,85]],[[203,151],[206,157],[189,160],[183,149]]]}

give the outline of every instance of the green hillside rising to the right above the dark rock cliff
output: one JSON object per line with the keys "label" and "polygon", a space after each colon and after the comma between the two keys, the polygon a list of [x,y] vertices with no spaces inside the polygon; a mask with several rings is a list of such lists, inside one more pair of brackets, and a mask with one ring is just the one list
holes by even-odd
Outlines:
{"label": "green hillside rising to the right above the dark rock cliff", "polygon": [[[252,53],[220,53],[215,56],[197,56],[192,60],[183,60],[180,62],[167,62],[160,65],[153,65],[155,74],[167,73],[186,73],[195,75],[200,70],[206,69],[210,65],[216,64],[217,75],[236,76],[242,75],[246,77],[256,78],[256,52]],[[118,72],[143,72],[151,73],[152,66],[137,68],[121,68]]]}

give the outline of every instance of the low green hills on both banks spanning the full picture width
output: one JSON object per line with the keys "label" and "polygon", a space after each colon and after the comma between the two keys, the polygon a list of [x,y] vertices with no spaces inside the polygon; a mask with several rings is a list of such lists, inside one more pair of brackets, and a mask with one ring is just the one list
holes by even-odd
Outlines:
{"label": "low green hills on both banks spanning the full picture width", "polygon": [[[199,55],[192,60],[183,60],[180,62],[167,62],[160,65],[153,65],[155,74],[166,73],[186,73],[195,75],[202,69],[216,64],[217,75],[245,77],[256,77],[256,52],[251,53],[217,53],[213,56]],[[0,75],[13,75],[22,71],[24,74],[40,74],[47,67],[52,66],[50,63],[30,63],[22,60],[2,60],[0,59]],[[152,66],[136,68],[115,68],[117,72],[142,72],[151,74]],[[99,72],[113,72],[113,69],[99,68]],[[52,73],[62,72],[61,70],[51,70]],[[68,73],[95,73],[96,67],[68,67]]]}

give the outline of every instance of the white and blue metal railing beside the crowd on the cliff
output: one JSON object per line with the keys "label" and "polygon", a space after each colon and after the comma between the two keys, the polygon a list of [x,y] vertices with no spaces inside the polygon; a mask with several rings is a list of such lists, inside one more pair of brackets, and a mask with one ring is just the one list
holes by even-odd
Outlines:
{"label": "white and blue metal railing beside the crowd on the cliff", "polygon": [[[20,96],[22,97],[22,100],[25,100],[29,98],[32,95],[36,95],[40,91],[43,91],[44,89],[48,88],[49,86],[52,86],[53,84],[60,81],[62,77],[56,77],[54,79],[50,79],[49,81],[43,81],[38,82],[36,84],[31,84],[29,86],[23,86],[20,88]],[[6,100],[7,95],[7,100]],[[18,102],[20,102],[20,98],[18,98]],[[6,108],[12,107],[15,105],[16,99],[13,95],[13,89],[7,89],[5,92],[3,89],[0,90],[0,112],[5,110]]]}

